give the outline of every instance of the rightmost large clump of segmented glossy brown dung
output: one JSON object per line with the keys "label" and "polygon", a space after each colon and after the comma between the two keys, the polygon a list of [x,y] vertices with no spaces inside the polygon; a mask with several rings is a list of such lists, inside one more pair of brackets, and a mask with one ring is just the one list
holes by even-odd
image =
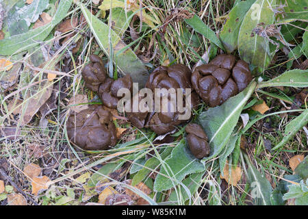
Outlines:
{"label": "rightmost large clump of segmented glossy brown dung", "polygon": [[252,79],[246,62],[236,62],[233,55],[225,54],[216,56],[209,64],[196,67],[191,77],[192,87],[210,107],[221,105],[235,96]]}

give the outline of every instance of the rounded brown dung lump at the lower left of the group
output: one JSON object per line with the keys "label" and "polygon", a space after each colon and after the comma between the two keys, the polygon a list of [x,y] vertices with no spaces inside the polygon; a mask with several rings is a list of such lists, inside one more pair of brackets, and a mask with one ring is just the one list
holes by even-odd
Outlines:
{"label": "rounded brown dung lump at the lower left of the group", "polygon": [[68,139],[81,149],[106,150],[116,144],[116,127],[109,111],[101,105],[71,114],[66,124]]}

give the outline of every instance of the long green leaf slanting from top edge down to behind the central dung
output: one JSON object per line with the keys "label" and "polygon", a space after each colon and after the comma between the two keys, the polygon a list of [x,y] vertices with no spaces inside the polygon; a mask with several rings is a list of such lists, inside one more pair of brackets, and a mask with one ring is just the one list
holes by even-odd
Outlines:
{"label": "long green leaf slanting from top edge down to behind the central dung", "polygon": [[[143,87],[147,78],[148,70],[142,64],[137,55],[120,39],[120,37],[108,27],[105,23],[99,20],[96,16],[82,4],[79,3],[81,11],[90,26],[92,34],[103,49],[105,55],[110,55],[110,44],[112,45],[113,57],[112,60],[118,67],[118,70],[125,75],[131,75],[133,82],[138,82],[140,87]],[[110,38],[109,38],[110,34]]]}

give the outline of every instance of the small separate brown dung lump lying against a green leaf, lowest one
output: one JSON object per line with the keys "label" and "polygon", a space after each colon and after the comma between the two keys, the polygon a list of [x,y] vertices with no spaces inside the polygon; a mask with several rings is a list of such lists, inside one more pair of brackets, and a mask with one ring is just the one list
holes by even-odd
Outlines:
{"label": "small separate brown dung lump lying against a green leaf, lowest one", "polygon": [[185,131],[188,133],[186,140],[192,154],[198,159],[207,157],[210,153],[210,147],[207,142],[207,135],[202,127],[198,124],[190,123],[186,125]]}

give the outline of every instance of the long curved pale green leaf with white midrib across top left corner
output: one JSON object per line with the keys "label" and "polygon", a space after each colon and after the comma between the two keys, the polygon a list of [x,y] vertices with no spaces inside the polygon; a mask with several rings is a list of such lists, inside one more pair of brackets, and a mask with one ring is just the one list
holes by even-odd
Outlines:
{"label": "long curved pale green leaf with white midrib across top left corner", "polygon": [[55,16],[53,16],[53,20],[47,25],[31,29],[24,34],[17,34],[10,38],[0,40],[0,55],[20,53],[21,51],[25,51],[40,44],[40,42],[49,35],[53,27],[60,23],[66,16],[72,1],[73,0],[61,0],[57,7],[57,12],[55,12]]}

